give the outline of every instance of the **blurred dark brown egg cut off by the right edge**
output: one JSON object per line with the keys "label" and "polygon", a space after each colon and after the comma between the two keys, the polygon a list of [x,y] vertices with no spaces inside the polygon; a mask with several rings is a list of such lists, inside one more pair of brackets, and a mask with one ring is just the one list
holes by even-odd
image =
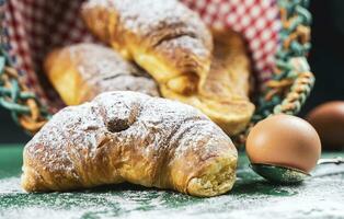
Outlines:
{"label": "blurred dark brown egg cut off by the right edge", "polygon": [[344,101],[316,107],[308,114],[307,120],[318,131],[324,148],[344,148]]}

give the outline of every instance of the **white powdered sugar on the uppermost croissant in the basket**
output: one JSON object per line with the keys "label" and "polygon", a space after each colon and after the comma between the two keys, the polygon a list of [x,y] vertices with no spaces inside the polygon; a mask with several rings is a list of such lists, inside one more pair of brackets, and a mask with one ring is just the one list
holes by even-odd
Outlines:
{"label": "white powdered sugar on the uppermost croissant in the basket", "polygon": [[191,31],[205,27],[198,14],[176,0],[89,0],[85,7],[115,9],[124,26],[139,35],[149,35],[153,30],[170,25],[177,26],[187,20]]}

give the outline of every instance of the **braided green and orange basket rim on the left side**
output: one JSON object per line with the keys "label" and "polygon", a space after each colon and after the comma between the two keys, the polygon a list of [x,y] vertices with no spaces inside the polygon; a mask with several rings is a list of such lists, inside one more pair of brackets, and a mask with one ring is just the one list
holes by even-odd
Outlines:
{"label": "braided green and orange basket rim on the left side", "polygon": [[14,122],[27,132],[34,134],[48,120],[47,111],[35,93],[30,92],[9,56],[9,36],[4,27],[7,1],[0,0],[0,105],[11,112]]}

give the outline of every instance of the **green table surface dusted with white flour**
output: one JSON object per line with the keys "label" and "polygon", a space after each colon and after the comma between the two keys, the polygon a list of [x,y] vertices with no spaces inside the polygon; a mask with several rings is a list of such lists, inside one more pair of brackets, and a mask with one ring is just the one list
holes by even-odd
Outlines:
{"label": "green table surface dusted with white flour", "polygon": [[0,218],[344,218],[344,165],[318,166],[301,185],[278,186],[255,175],[241,153],[233,189],[214,198],[133,185],[27,194],[20,187],[22,147],[0,146]]}

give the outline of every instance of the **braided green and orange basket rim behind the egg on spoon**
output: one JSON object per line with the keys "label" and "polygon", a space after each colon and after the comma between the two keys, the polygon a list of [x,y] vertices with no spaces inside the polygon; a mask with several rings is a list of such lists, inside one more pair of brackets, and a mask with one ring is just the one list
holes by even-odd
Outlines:
{"label": "braided green and orange basket rim behind the egg on spoon", "polygon": [[251,128],[261,119],[274,114],[299,113],[310,94],[316,78],[310,71],[307,55],[310,49],[311,14],[308,0],[278,0],[282,46],[276,53],[276,67],[265,90],[257,100],[257,108],[245,131],[234,137],[243,145]]}

